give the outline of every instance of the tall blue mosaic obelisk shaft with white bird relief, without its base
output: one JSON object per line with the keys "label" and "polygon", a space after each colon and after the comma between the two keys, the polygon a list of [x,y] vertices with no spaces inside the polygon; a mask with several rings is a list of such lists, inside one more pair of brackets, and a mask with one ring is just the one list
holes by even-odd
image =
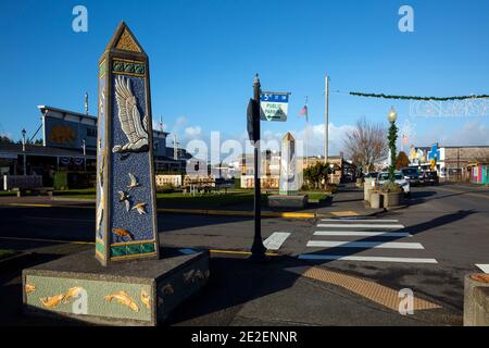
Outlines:
{"label": "tall blue mosaic obelisk shaft with white bird relief, without its base", "polygon": [[148,55],[123,22],[99,61],[96,258],[159,258]]}

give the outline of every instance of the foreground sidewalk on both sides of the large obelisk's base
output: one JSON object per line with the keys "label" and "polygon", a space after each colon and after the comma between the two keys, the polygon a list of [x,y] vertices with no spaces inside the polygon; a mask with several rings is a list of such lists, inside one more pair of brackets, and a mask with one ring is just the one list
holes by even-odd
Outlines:
{"label": "foreground sidewalk on both sides of the large obelisk's base", "polygon": [[[65,320],[22,314],[21,269],[33,263],[59,258],[65,253],[79,252],[86,248],[88,247],[70,246],[70,248],[60,250],[55,246],[47,247],[42,251],[39,250],[40,253],[36,261],[26,262],[16,270],[0,273],[0,296],[10,299],[0,313],[0,326],[73,325],[73,322]],[[311,276],[313,273],[311,270],[319,276]],[[328,275],[329,278],[322,277],[321,273]],[[331,278],[331,274],[336,279]],[[375,294],[348,289],[348,284],[352,279],[355,284],[367,283],[371,288],[376,290]],[[208,285],[195,298],[177,308],[164,325],[392,326],[462,324],[461,313],[444,308],[443,303],[432,299],[416,297],[414,314],[401,315],[398,311],[400,301],[397,296],[398,291],[397,288],[352,277],[343,271],[313,266],[288,257],[271,258],[269,262],[259,264],[238,256],[213,256]],[[378,300],[379,297],[380,300]],[[76,323],[75,325],[84,324]]]}

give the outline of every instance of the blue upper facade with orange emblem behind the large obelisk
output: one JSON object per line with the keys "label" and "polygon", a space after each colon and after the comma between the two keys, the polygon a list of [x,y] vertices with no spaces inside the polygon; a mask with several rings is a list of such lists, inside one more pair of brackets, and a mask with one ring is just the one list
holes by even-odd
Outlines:
{"label": "blue upper facade with orange emblem behind the large obelisk", "polygon": [[[27,144],[24,151],[22,144],[0,144],[0,174],[24,174],[24,158],[25,174],[42,175],[48,184],[57,171],[95,173],[97,117],[48,105],[38,109],[42,145]],[[191,156],[166,147],[167,135],[153,129],[155,171],[185,172]]]}

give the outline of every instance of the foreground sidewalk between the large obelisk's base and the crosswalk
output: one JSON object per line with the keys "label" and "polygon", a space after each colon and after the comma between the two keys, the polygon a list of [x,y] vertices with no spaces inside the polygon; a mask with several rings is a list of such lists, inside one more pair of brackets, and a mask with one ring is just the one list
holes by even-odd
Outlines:
{"label": "foreground sidewalk between the large obelisk's base and the crosswalk", "polygon": [[[203,293],[179,308],[171,318],[172,325],[461,325],[460,313],[448,310],[429,299],[430,303],[415,310],[413,315],[401,315],[399,289],[381,288],[380,296],[391,291],[393,307],[388,308],[368,294],[354,294],[341,285],[301,275],[312,266],[298,260],[273,258],[267,264],[253,264],[244,259],[212,258],[212,275]],[[314,266],[319,272],[350,277],[329,268]],[[344,281],[348,283],[350,279]],[[377,295],[378,295],[377,293]],[[383,294],[384,293],[384,294]],[[393,309],[394,308],[394,309]]]}

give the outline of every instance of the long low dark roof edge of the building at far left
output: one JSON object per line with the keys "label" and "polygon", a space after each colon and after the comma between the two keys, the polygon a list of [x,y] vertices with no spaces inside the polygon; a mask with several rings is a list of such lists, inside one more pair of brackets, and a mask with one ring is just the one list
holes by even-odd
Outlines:
{"label": "long low dark roof edge of the building at far left", "polygon": [[[0,158],[12,156],[40,156],[40,157],[72,157],[72,158],[83,158],[84,153],[82,150],[68,150],[68,149],[60,149],[53,147],[45,147],[41,145],[30,145],[26,144],[25,152],[22,151],[22,144],[12,144],[12,142],[1,142],[0,144]],[[95,154],[87,153],[88,159],[95,159]]]}

